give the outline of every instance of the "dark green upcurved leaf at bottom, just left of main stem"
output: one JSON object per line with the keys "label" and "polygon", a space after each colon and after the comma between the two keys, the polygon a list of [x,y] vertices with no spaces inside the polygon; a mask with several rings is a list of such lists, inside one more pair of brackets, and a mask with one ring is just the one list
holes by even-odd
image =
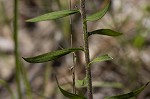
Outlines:
{"label": "dark green upcurved leaf at bottom, just left of main stem", "polygon": [[69,99],[87,99],[87,98],[84,97],[84,96],[77,95],[77,94],[73,94],[73,93],[70,93],[70,92],[67,92],[67,91],[63,90],[63,89],[60,87],[57,78],[56,78],[56,81],[57,81],[57,85],[58,85],[59,90],[61,91],[61,93],[62,93],[65,97],[67,97],[67,98],[69,98]]}

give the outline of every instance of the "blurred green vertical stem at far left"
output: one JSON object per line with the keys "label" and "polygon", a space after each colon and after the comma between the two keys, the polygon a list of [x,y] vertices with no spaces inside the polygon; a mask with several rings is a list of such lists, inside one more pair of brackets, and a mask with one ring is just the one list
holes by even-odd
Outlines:
{"label": "blurred green vertical stem at far left", "polygon": [[18,98],[22,99],[21,86],[20,86],[20,66],[19,66],[19,54],[18,54],[18,0],[14,0],[14,46],[15,46],[15,64],[16,64],[16,83]]}

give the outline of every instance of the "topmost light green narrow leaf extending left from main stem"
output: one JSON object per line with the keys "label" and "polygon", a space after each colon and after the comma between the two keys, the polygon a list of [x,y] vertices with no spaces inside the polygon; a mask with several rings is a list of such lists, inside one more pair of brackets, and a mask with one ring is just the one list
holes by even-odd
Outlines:
{"label": "topmost light green narrow leaf extending left from main stem", "polygon": [[79,10],[63,10],[63,11],[56,11],[47,13],[32,19],[27,20],[27,22],[39,22],[39,21],[46,21],[46,20],[55,20],[62,17],[66,17],[71,14],[79,13]]}

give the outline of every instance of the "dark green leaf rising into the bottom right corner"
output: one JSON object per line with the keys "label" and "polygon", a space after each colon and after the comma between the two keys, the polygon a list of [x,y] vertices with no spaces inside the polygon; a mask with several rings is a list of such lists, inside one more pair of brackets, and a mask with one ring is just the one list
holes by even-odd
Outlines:
{"label": "dark green leaf rising into the bottom right corner", "polygon": [[111,97],[106,97],[104,99],[129,99],[132,97],[136,97],[137,95],[139,95],[145,88],[146,86],[149,84],[150,82],[148,82],[146,85],[140,87],[139,89],[129,92],[127,94],[122,94],[122,95],[117,95],[117,96],[111,96]]}

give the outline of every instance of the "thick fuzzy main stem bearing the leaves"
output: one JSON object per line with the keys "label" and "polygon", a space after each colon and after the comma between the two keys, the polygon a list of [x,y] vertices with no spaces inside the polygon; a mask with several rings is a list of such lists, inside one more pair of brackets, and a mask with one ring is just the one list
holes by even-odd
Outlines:
{"label": "thick fuzzy main stem bearing the leaves", "polygon": [[87,21],[86,21],[86,11],[85,11],[85,0],[80,0],[81,7],[81,17],[83,22],[83,39],[84,39],[84,53],[85,53],[85,61],[86,61],[86,79],[87,79],[87,95],[88,99],[93,99],[92,94],[92,79],[91,79],[91,68],[90,56],[89,56],[89,44],[88,44],[88,32],[87,32]]}

